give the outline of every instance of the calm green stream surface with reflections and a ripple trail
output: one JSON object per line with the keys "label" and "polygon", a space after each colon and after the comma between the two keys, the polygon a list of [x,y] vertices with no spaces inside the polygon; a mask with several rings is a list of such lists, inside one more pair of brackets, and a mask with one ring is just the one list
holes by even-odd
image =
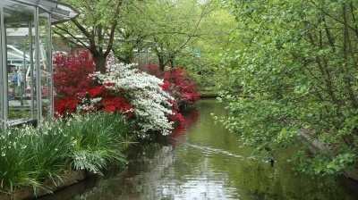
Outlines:
{"label": "calm green stream surface with reflections and a ripple trail", "polygon": [[126,169],[110,169],[41,199],[358,199],[358,187],[348,179],[295,175],[294,163],[287,162],[294,148],[275,153],[274,167],[265,155],[251,159],[251,149],[215,124],[211,112],[227,114],[216,100],[200,100],[185,113],[182,129],[133,146]]}

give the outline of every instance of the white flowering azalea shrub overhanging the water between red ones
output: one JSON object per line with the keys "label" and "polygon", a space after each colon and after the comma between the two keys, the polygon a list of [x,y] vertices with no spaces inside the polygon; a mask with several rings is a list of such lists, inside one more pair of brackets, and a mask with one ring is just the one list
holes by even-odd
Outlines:
{"label": "white flowering azalea shrub overhanging the water between red ones", "polygon": [[173,121],[167,116],[173,115],[174,98],[162,87],[162,79],[146,72],[132,69],[134,64],[115,63],[108,67],[105,74],[95,72],[90,77],[113,93],[121,93],[132,104],[132,117],[139,136],[145,137],[150,130],[167,135],[172,129]]}

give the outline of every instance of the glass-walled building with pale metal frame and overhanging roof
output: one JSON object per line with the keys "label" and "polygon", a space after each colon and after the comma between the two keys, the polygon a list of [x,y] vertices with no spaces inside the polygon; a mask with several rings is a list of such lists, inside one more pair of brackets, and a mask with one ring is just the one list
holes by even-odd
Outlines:
{"label": "glass-walled building with pale metal frame and overhanging roof", "polygon": [[55,1],[0,1],[1,126],[51,120],[51,25],[78,12]]}

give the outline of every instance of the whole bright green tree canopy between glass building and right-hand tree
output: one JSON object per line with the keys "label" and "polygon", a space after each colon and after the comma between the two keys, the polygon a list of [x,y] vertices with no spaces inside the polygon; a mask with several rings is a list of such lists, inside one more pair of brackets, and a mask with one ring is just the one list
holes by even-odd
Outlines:
{"label": "whole bright green tree canopy between glass building and right-hand tree", "polygon": [[221,8],[221,2],[65,2],[81,14],[55,25],[54,36],[73,48],[89,49],[97,71],[105,71],[109,49],[123,63],[159,63],[162,71],[165,67],[181,66],[191,71],[201,89],[210,94],[217,93],[216,85],[235,87],[230,71],[219,68],[218,55],[238,44],[230,38],[235,28],[234,16]]}

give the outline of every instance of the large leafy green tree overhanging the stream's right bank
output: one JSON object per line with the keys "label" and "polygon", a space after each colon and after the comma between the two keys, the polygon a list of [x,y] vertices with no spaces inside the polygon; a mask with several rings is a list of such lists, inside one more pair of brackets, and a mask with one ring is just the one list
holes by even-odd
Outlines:
{"label": "large leafy green tree overhanging the stream's right bank", "polygon": [[[232,1],[240,48],[226,54],[242,96],[222,100],[221,121],[257,152],[325,145],[294,156],[299,170],[338,174],[358,167],[358,26],[355,1]],[[310,135],[307,135],[310,133]],[[327,159],[328,158],[328,159]]]}

